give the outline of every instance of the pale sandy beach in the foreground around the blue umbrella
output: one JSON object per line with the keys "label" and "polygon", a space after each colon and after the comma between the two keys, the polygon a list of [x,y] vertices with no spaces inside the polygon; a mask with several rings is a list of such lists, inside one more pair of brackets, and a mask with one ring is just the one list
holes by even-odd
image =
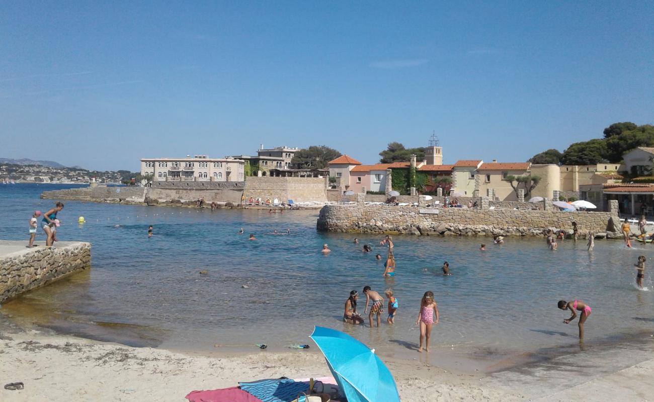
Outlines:
{"label": "pale sandy beach in the foreground around the blue umbrella", "polygon": [[[239,380],[330,374],[320,354],[303,351],[190,356],[35,330],[4,333],[0,344],[0,381],[25,384],[24,390],[0,389],[2,401],[184,401],[193,390],[235,386]],[[654,390],[654,360],[605,375],[591,371],[587,380],[562,382],[563,387],[548,384],[557,377],[543,374],[547,364],[486,377],[419,360],[387,364],[403,401],[647,401]]]}

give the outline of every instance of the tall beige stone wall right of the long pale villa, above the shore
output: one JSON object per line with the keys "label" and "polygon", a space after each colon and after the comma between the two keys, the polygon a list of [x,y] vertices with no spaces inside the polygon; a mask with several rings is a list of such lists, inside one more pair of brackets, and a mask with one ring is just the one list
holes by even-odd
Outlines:
{"label": "tall beige stone wall right of the long pale villa, above the shore", "polygon": [[248,177],[245,197],[295,202],[327,201],[327,177]]}

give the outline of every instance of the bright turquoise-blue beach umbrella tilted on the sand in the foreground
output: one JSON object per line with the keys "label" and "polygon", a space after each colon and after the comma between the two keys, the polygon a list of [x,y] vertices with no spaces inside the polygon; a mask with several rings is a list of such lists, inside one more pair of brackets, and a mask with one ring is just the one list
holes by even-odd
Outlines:
{"label": "bright turquoise-blue beach umbrella tilted on the sand in the foreground", "polygon": [[318,345],[348,402],[400,402],[388,367],[363,343],[347,333],[315,327],[311,339]]}

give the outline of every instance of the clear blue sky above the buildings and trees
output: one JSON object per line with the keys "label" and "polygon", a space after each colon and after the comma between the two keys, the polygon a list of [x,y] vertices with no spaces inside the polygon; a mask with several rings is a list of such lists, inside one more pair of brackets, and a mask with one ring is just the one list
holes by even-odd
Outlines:
{"label": "clear blue sky above the buildings and trees", "polygon": [[654,122],[646,1],[13,1],[0,157],[142,157],[388,142],[524,161]]}

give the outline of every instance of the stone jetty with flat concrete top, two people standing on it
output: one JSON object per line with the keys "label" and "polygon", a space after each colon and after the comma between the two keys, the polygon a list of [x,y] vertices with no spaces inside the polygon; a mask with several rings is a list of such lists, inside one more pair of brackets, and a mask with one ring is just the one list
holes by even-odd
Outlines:
{"label": "stone jetty with flat concrete top, two people standing on it", "polygon": [[0,241],[0,303],[91,266],[91,244],[58,242],[56,248],[26,248]]}

